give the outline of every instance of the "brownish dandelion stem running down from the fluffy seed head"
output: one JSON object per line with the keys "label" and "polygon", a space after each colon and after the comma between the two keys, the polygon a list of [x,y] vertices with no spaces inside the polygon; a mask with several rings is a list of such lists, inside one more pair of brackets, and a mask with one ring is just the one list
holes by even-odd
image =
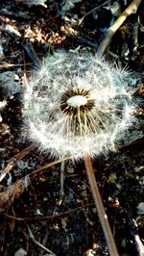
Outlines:
{"label": "brownish dandelion stem running down from the fluffy seed head", "polygon": [[114,242],[112,232],[108,223],[108,217],[104,209],[102,198],[99,192],[99,188],[94,175],[92,163],[90,157],[84,157],[84,165],[86,167],[86,174],[90,184],[90,189],[93,195],[95,206],[98,212],[98,216],[101,221],[101,225],[105,234],[106,242],[108,244],[108,251],[110,256],[119,256],[116,244]]}

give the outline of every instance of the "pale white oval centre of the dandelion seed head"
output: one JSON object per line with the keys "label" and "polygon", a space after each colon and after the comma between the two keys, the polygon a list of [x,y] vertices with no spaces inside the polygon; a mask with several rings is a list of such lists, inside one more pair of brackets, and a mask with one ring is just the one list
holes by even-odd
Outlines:
{"label": "pale white oval centre of the dandelion seed head", "polygon": [[83,95],[75,95],[67,100],[67,104],[72,108],[79,108],[87,103],[87,99]]}

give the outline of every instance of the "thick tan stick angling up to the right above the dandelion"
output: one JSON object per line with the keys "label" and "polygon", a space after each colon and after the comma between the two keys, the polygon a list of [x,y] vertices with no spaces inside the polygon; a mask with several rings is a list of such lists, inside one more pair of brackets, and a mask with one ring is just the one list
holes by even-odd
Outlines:
{"label": "thick tan stick angling up to the right above the dandelion", "polygon": [[98,55],[103,55],[108,47],[108,44],[115,34],[115,32],[119,29],[119,27],[124,23],[126,18],[133,13],[137,12],[138,6],[140,5],[142,0],[133,0],[129,7],[116,19],[112,26],[108,28],[108,33],[106,38],[104,38],[99,46]]}

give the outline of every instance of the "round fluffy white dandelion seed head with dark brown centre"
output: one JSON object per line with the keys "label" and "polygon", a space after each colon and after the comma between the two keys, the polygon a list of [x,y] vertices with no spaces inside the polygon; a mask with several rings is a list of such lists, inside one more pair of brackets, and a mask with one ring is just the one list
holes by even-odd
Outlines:
{"label": "round fluffy white dandelion seed head with dark brown centre", "polygon": [[132,123],[129,77],[90,53],[47,57],[24,92],[26,138],[75,159],[113,149]]}

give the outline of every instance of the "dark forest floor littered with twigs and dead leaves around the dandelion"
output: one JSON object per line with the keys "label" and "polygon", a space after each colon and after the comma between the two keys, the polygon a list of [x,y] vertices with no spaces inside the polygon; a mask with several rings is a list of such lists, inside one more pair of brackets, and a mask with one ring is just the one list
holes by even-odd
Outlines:
{"label": "dark forest floor littered with twigs and dead leaves around the dandelion", "polygon": [[[62,165],[54,165],[54,159],[39,154],[34,144],[22,139],[21,98],[24,79],[31,76],[39,60],[56,49],[87,47],[96,52],[108,27],[130,3],[1,0],[1,256],[108,255],[84,163],[65,163],[61,196]],[[122,24],[106,51],[110,62],[127,66],[136,77],[136,121],[117,152],[93,160],[120,256],[143,255],[143,14],[140,6]]]}

